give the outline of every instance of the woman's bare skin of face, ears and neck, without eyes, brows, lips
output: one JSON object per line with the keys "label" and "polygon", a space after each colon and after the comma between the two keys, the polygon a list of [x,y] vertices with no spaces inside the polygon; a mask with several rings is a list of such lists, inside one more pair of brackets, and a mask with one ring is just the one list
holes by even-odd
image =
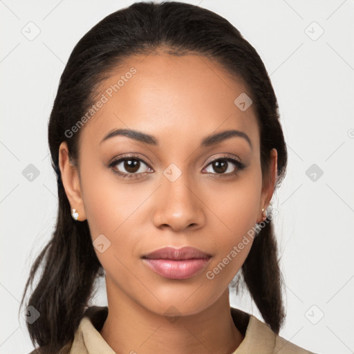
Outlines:
{"label": "woman's bare skin of face, ears and neck, without eyes, brows, lips", "polygon": [[[101,93],[131,66],[137,73],[80,131],[79,166],[69,162],[66,142],[59,149],[71,207],[80,221],[87,219],[93,240],[104,234],[111,242],[103,253],[95,249],[106,272],[109,306],[100,334],[116,353],[232,353],[243,335],[230,315],[228,285],[252,239],[214,279],[206,273],[262,221],[261,209],[274,192],[277,150],[270,151],[270,178],[262,180],[253,107],[241,111],[234,104],[248,90],[217,62],[192,54],[131,57],[103,83]],[[124,136],[100,144],[118,128],[149,133],[159,145]],[[227,129],[245,132],[252,149],[240,137],[200,147],[205,136]],[[127,180],[106,167],[129,153],[149,162],[140,162],[136,174],[151,173]],[[239,158],[245,169],[236,176],[218,174],[210,162],[225,155]],[[171,163],[181,172],[174,182],[163,174]],[[127,173],[123,164],[115,168]],[[235,169],[229,162],[223,173]],[[168,245],[192,245],[212,259],[189,279],[166,279],[141,257]],[[175,321],[165,315],[170,306],[178,314]]]}

